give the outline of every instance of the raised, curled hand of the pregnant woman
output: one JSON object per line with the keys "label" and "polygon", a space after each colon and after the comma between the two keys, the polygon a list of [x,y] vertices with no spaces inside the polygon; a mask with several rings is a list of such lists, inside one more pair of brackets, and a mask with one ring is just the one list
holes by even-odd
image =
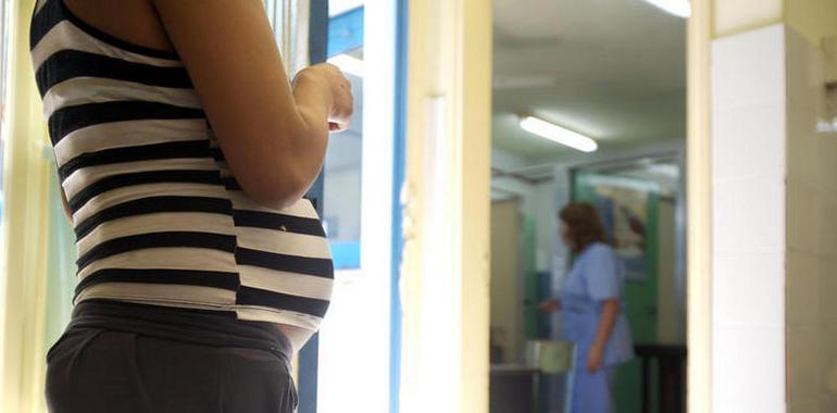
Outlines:
{"label": "raised, curled hand of the pregnant woman", "polygon": [[300,85],[309,82],[320,82],[332,97],[332,108],[328,113],[328,129],[341,132],[349,127],[354,100],[351,93],[351,83],[330,63],[320,63],[300,71],[293,78],[293,90],[298,92]]}

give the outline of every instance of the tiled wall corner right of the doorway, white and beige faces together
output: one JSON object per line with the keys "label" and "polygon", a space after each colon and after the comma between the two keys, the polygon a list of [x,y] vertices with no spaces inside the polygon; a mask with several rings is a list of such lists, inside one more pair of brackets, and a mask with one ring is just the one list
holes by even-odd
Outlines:
{"label": "tiled wall corner right of the doorway, white and beige faces together", "polygon": [[776,25],[714,40],[712,76],[715,412],[837,412],[837,136],[816,133],[822,55]]}

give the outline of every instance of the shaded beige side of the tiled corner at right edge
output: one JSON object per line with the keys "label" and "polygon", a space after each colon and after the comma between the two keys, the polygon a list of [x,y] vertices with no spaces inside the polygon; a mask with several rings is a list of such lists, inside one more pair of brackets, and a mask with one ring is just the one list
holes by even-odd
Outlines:
{"label": "shaded beige side of the tiled corner at right edge", "polygon": [[786,28],[787,380],[790,412],[824,413],[837,412],[837,133],[817,132],[826,66],[810,38]]}

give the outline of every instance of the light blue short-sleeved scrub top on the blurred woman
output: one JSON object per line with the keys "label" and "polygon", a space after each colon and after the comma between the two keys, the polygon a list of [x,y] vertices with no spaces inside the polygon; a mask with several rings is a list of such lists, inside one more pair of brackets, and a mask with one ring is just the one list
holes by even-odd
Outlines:
{"label": "light blue short-sleeved scrub top on the blurred woman", "polygon": [[[625,306],[625,266],[608,245],[588,246],[575,260],[561,287],[562,331],[564,339],[586,352],[596,339],[601,303],[622,299]],[[634,358],[630,327],[624,310],[620,312],[604,351],[604,365],[624,363]]]}

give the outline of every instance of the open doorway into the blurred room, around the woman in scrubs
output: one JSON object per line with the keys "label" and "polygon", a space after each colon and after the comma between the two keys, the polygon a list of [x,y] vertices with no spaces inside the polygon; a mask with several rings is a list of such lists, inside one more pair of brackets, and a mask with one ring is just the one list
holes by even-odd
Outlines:
{"label": "open doorway into the blurred room, around the woman in scrubs", "polygon": [[627,268],[619,411],[685,411],[686,21],[642,0],[495,0],[494,16],[491,411],[571,401],[562,317],[538,311],[575,259],[569,202],[596,206]]}

